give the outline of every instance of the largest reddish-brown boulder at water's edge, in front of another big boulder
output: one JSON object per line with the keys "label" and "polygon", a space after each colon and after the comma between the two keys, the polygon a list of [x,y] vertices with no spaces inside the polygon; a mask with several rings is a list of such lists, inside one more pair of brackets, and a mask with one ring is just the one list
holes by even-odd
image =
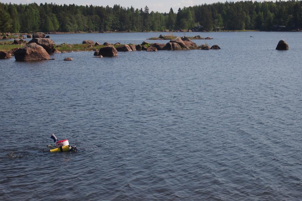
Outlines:
{"label": "largest reddish-brown boulder at water's edge, in front of another big boulder", "polygon": [[14,52],[16,61],[32,61],[50,59],[46,50],[37,43],[30,43]]}

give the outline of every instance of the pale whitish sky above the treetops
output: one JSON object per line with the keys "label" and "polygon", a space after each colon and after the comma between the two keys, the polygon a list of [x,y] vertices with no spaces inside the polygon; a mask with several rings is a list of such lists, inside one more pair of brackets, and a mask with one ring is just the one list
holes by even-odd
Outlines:
{"label": "pale whitish sky above the treetops", "polygon": [[[175,0],[175,1],[164,1],[164,0],[111,0],[111,1],[92,1],[92,0],[0,0],[2,3],[12,3],[12,4],[29,4],[36,2],[40,3],[56,3],[56,4],[76,4],[76,5],[97,5],[97,6],[106,6],[109,5],[113,7],[114,4],[119,4],[123,7],[129,7],[132,5],[134,8],[144,8],[146,5],[149,7],[149,11],[159,11],[159,12],[169,12],[170,8],[173,8],[173,11],[177,13],[178,8],[183,8],[184,6],[193,6],[199,4],[210,4],[214,2],[225,2],[226,0]],[[262,1],[262,0],[261,0]],[[230,2],[230,0],[228,1]]]}

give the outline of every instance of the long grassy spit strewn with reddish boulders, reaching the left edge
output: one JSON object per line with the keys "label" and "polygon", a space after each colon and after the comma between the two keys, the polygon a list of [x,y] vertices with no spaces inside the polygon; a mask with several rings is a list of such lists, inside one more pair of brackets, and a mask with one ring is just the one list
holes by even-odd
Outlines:
{"label": "long grassy spit strewn with reddish boulders, reaching the left edge", "polygon": [[[54,53],[66,53],[73,51],[94,51],[95,57],[114,57],[118,56],[118,52],[127,51],[147,51],[157,52],[159,50],[189,50],[189,49],[220,49],[218,45],[208,46],[207,44],[197,46],[190,37],[174,37],[168,43],[148,43],[143,41],[141,44],[120,44],[120,43],[103,43],[102,45],[92,40],[84,40],[82,44],[67,44],[62,43],[56,45],[50,37],[38,32],[29,36],[33,37],[28,43],[22,39],[15,39],[13,42],[5,42],[7,49],[0,49],[0,59],[11,58],[15,56],[16,61],[31,61],[31,60],[49,60],[50,55]],[[201,38],[200,36],[195,36]],[[1,45],[1,44],[0,44]],[[3,45],[3,43],[2,43]],[[8,46],[11,45],[11,46]],[[0,46],[1,48],[1,46]],[[72,58],[65,58],[72,60]]]}

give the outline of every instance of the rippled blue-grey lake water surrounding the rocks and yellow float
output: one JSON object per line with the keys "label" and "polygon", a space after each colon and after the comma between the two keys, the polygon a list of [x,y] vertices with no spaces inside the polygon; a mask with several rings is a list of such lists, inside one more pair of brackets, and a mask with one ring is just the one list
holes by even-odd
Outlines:
{"label": "rippled blue-grey lake water surrounding the rocks and yellow float", "polygon": [[[0,60],[0,199],[301,199],[302,33],[174,35],[221,49]],[[275,50],[281,39],[288,51]],[[78,152],[43,152],[52,133]]]}

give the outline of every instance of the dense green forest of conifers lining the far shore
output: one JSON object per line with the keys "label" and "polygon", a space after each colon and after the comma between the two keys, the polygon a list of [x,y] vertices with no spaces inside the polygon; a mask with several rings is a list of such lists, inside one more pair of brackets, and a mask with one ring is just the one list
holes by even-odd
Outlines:
{"label": "dense green forest of conifers lining the far shore", "polygon": [[225,2],[179,8],[169,13],[149,8],[114,5],[77,6],[36,3],[0,3],[0,30],[34,31],[164,31],[193,30],[291,30],[302,24],[302,1]]}

